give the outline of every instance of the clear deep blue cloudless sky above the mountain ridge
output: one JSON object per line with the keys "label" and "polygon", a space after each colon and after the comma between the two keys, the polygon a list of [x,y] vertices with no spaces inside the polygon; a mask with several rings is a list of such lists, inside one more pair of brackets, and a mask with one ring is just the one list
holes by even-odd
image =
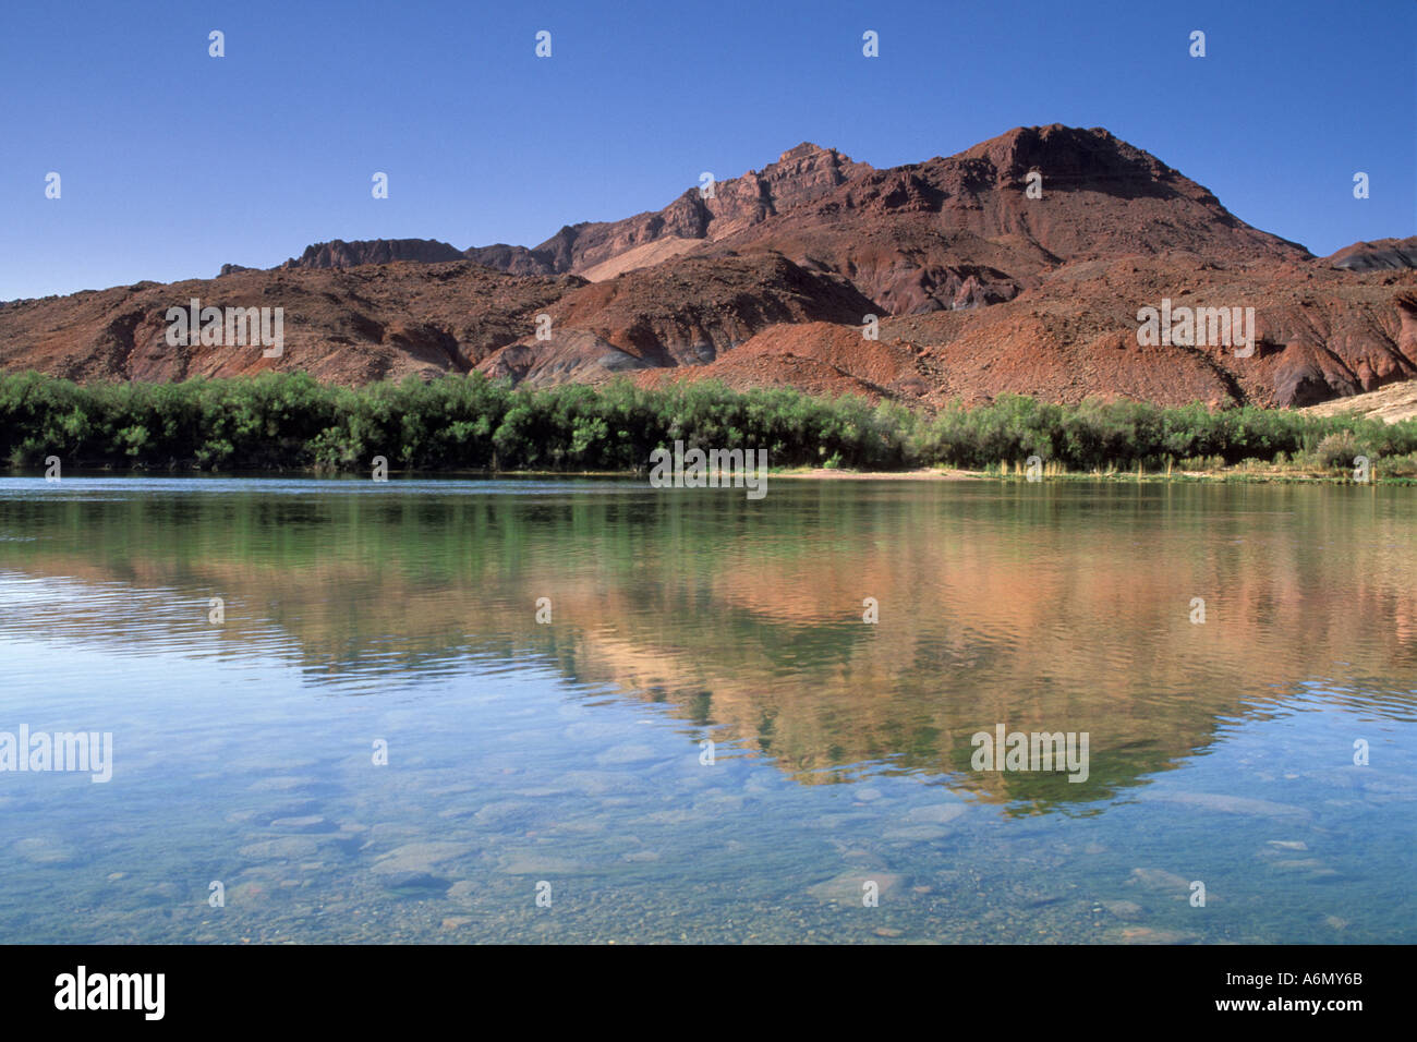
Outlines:
{"label": "clear deep blue cloudless sky above the mountain ridge", "polygon": [[1417,233],[1414,41],[1413,0],[11,4],[0,299],[330,238],[536,245],[802,140],[891,166],[1053,122],[1328,254]]}

